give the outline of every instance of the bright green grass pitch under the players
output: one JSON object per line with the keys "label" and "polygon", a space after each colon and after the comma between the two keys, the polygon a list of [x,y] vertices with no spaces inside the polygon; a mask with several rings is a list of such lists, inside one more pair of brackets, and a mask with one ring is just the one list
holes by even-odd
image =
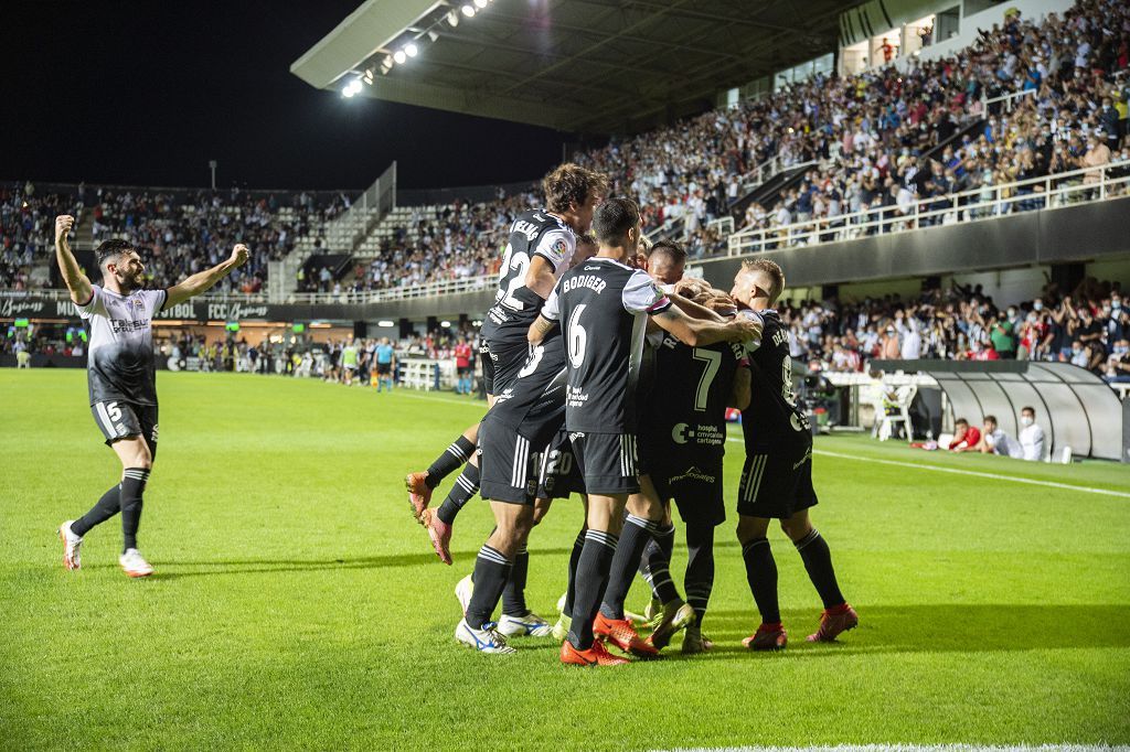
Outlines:
{"label": "bright green grass pitch under the players", "polygon": [[[774,530],[792,642],[744,650],[757,622],[730,505],[705,624],[716,649],[577,670],[548,641],[492,657],[452,639],[452,587],[490,515],[464,510],[444,567],[401,479],[481,403],[252,375],[158,382],[140,537],[157,574],[133,582],[118,568],[116,518],[87,536],[79,572],[63,570],[54,537],[118,476],[85,374],[0,371],[3,749],[1130,742],[1128,467],[822,438],[814,521],[859,629],[805,642],[819,603]],[[741,445],[729,452],[732,498]],[[547,618],[580,523],[579,502],[558,502],[531,537],[530,603]],[[672,571],[684,561],[680,545]],[[628,605],[644,600],[636,585]]]}

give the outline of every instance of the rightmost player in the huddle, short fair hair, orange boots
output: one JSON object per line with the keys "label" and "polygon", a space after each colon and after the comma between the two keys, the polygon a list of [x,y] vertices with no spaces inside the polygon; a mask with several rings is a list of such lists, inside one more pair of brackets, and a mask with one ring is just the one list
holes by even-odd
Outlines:
{"label": "rightmost player in the huddle, short fair hair, orange boots", "polygon": [[809,641],[832,641],[854,629],[859,615],[844,600],[832,567],[828,544],[812,527],[812,435],[808,417],[797,403],[789,357],[789,329],[773,305],[784,290],[784,273],[772,261],[742,264],[731,296],[739,308],[763,324],[760,343],[750,351],[751,400],[742,412],[746,464],[738,488],[738,542],[746,577],[762,624],[744,640],[754,650],[780,650],[788,644],[777,605],[777,569],[766,537],[771,519],[779,519],[805,562],[824,602],[820,626]]}

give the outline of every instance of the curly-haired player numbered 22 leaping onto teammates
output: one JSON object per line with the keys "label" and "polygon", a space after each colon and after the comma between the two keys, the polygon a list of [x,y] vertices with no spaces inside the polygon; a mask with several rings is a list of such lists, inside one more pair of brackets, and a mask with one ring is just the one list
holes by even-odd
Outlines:
{"label": "curly-haired player numbered 22 leaping onto teammates", "polygon": [[[498,276],[495,304],[480,330],[483,381],[487,404],[514,383],[530,356],[527,332],[537,318],[554,285],[575,260],[576,236],[589,230],[592,212],[608,190],[608,180],[574,164],[564,164],[541,183],[546,208],[524,211],[511,225],[506,253]],[[451,524],[459,510],[479,490],[479,469],[471,461],[478,441],[478,425],[469,427],[424,472],[405,479],[412,514],[427,527],[436,554],[451,563]],[[463,472],[435,514],[424,510],[432,491],[460,465]]]}

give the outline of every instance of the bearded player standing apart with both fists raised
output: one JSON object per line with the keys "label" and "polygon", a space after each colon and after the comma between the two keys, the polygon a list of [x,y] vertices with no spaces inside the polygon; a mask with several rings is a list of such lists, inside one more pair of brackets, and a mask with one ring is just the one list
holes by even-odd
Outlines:
{"label": "bearded player standing apart with both fists raised", "polygon": [[55,259],[79,315],[90,322],[90,412],[122,463],[122,479],[89,511],[59,527],[63,566],[79,569],[82,536],[120,511],[124,542],[119,563],[130,577],[148,577],[153,567],[138,551],[137,533],[142,496],[157,453],[153,317],[163,308],[210,289],[241,266],[247,261],[247,246],[236,245],[227,261],[166,290],[146,290],[141,287],[145,264],[137,250],[125,241],[105,241],[97,250],[102,270],[98,286],[90,283],[71,253],[67,234],[73,224],[70,216],[55,218]]}

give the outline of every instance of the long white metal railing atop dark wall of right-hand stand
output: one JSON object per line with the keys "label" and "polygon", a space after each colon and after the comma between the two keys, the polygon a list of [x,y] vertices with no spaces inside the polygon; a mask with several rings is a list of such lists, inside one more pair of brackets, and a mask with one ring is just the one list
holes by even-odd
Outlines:
{"label": "long white metal railing atop dark wall of right-hand stand", "polygon": [[[1115,172],[1121,174],[1112,174]],[[742,229],[730,236],[729,255],[906,233],[921,227],[992,219],[1015,211],[1057,209],[1080,201],[1103,201],[1128,193],[1130,160],[1124,160],[1012,183],[983,185],[960,193],[915,199],[907,209],[897,204],[872,207],[838,217]]]}

